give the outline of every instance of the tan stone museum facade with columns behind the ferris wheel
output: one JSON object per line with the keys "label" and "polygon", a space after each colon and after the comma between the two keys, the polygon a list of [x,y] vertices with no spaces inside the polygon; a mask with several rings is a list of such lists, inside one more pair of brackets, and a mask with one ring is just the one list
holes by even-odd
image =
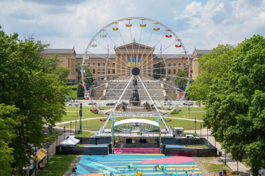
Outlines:
{"label": "tan stone museum facade with columns behind the ferris wheel", "polygon": [[[139,48],[139,53],[138,52]],[[130,73],[130,67],[132,67],[133,62],[127,62],[127,58],[141,58],[141,74],[142,76],[149,79],[149,77],[153,77],[154,63],[159,62],[161,59],[166,59],[166,75],[170,75],[169,78],[173,78],[176,76],[179,70],[182,70],[183,67],[187,66],[187,61],[182,59],[185,55],[173,55],[173,54],[162,54],[157,55],[154,54],[154,48],[145,46],[136,42],[131,44],[126,44],[120,47],[114,48],[115,54],[86,54],[86,58],[84,64],[90,69],[93,76],[95,76],[95,80],[101,80],[105,77],[108,79],[120,78],[126,79]],[[137,52],[136,52],[137,51]],[[194,49],[192,55],[189,55],[190,64],[191,64],[191,78],[196,78],[200,73],[198,58],[202,56],[204,53],[208,53],[211,50],[197,50]],[[68,79],[75,79],[77,77],[77,73],[75,72],[75,66],[77,64],[82,63],[82,59],[84,54],[76,54],[75,49],[46,49],[43,52],[43,56],[55,56],[58,55],[61,67],[67,67],[70,69],[70,74]],[[109,57],[108,57],[109,56]],[[108,58],[108,59],[104,59]],[[153,58],[153,59],[152,59]],[[138,60],[137,60],[138,62]],[[139,64],[139,63],[135,64]],[[164,61],[163,61],[164,62]]]}

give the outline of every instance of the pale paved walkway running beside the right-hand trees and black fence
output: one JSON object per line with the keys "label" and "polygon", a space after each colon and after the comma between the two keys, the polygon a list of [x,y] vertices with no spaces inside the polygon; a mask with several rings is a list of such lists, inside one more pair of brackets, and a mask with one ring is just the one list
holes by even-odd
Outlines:
{"label": "pale paved walkway running beside the right-hand trees and black fence", "polygon": [[[184,132],[192,132],[195,131],[184,131]],[[197,134],[200,136],[200,130],[196,130]],[[202,137],[205,137],[207,139],[207,129],[202,129]],[[215,139],[212,135],[208,134],[208,140],[211,144],[215,145]],[[224,149],[221,149],[221,144],[216,142],[216,148],[218,151],[222,151],[222,156],[220,158],[225,162],[225,151]],[[237,174],[237,161],[232,159],[232,155],[230,153],[226,154],[226,164],[231,168],[231,170],[234,171],[235,174]],[[239,174],[242,176],[250,176],[250,170],[247,168],[244,164],[238,162],[238,170]]]}

